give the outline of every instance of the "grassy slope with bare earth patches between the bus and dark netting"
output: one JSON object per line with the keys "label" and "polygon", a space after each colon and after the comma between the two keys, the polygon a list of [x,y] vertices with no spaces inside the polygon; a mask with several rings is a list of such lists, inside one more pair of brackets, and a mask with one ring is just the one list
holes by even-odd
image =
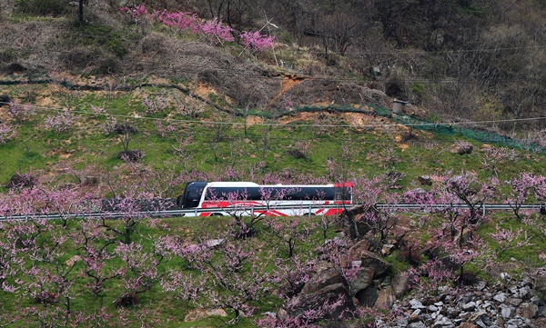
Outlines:
{"label": "grassy slope with bare earth patches between the bus and dark netting", "polygon": [[[49,88],[57,87],[49,85]],[[407,128],[366,114],[322,114],[324,117],[320,119],[321,114],[297,114],[280,120],[263,120],[254,116],[248,118],[245,134],[244,118],[229,116],[209,106],[197,118],[181,114],[175,104],[169,104],[159,113],[147,114],[142,104],[143,94],[153,97],[157,89],[143,88],[137,94],[68,91],[61,96],[48,94],[47,89],[47,85],[32,84],[0,87],[0,94],[11,94],[15,99],[35,94],[32,96],[35,102],[29,104],[33,104],[36,113],[21,122],[11,121],[17,134],[13,140],[0,146],[3,154],[0,158],[0,181],[3,184],[16,172],[36,171],[41,175],[58,176],[66,165],[81,168],[93,164],[99,172],[116,170],[124,163],[116,158],[116,154],[123,150],[121,137],[103,131],[106,121],[112,117],[118,124],[131,124],[138,129],[129,148],[144,151],[147,154],[145,164],[155,168],[174,167],[177,171],[184,166],[201,171],[226,167],[243,170],[263,162],[266,172],[289,168],[296,174],[322,176],[327,172],[328,159],[340,161],[343,148],[347,147],[349,159],[344,159],[344,165],[348,171],[362,172],[371,177],[396,170],[405,174],[401,184],[410,187],[419,175],[441,174],[448,170],[476,171],[486,176],[490,172],[482,164],[483,150],[489,146],[500,147],[469,140],[475,149],[472,154],[453,154],[451,147],[460,138],[419,131],[404,142]],[[171,91],[161,90],[167,97]],[[67,96],[72,103],[70,107],[74,108],[76,123],[59,134],[46,130],[45,117],[55,115],[62,104],[67,103]],[[94,114],[92,104],[105,108],[106,114]],[[6,105],[2,108],[7,110]],[[157,122],[171,125],[174,130],[162,136],[157,130]],[[355,122],[361,126],[329,126]],[[184,156],[174,150],[181,144]],[[289,150],[295,149],[304,151],[307,158],[288,154]],[[501,179],[511,178],[522,171],[542,173],[543,155],[524,151],[517,151],[517,154],[517,165],[499,164]]]}

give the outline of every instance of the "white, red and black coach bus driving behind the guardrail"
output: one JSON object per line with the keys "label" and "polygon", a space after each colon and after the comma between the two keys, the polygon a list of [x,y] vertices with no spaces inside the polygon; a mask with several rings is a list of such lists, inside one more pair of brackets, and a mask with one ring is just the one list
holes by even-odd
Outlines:
{"label": "white, red and black coach bus driving behind the guardrail", "polygon": [[177,197],[182,209],[212,215],[334,215],[352,204],[352,183],[255,184],[193,181]]}

